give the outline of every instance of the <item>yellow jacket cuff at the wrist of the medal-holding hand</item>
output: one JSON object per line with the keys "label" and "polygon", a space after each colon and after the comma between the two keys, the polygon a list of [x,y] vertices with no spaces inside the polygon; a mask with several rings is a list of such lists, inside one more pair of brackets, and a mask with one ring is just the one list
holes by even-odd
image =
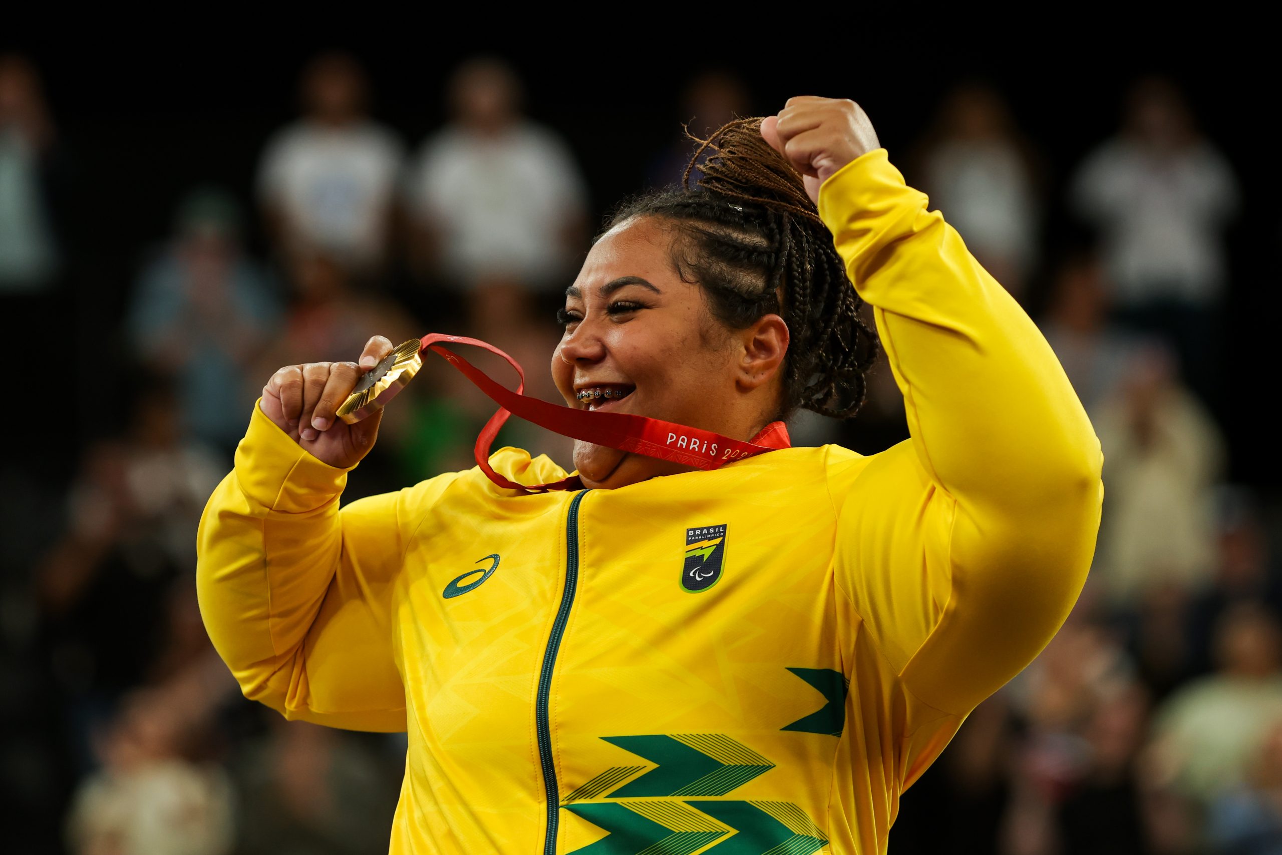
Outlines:
{"label": "yellow jacket cuff at the wrist of the medal-holding hand", "polygon": [[245,495],[268,510],[300,514],[333,501],[349,469],[323,463],[291,440],[254,403],[245,438],[236,446],[236,479]]}

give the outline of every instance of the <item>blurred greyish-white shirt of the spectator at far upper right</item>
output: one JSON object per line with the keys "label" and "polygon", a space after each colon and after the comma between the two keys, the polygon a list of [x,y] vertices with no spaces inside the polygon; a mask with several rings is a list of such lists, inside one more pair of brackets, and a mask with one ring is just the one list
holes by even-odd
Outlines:
{"label": "blurred greyish-white shirt of the spectator at far upper right", "polygon": [[1237,181],[1210,145],[1156,156],[1113,140],[1087,158],[1072,194],[1078,213],[1101,231],[1122,305],[1206,303],[1223,291],[1223,229],[1237,210]]}

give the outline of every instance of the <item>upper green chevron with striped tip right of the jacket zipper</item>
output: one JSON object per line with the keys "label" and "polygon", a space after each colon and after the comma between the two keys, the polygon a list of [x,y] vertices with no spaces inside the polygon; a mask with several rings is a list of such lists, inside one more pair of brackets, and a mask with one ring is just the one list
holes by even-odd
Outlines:
{"label": "upper green chevron with striped tip right of the jacket zipper", "polygon": [[655,769],[612,792],[612,799],[724,796],[774,768],[756,751],[722,733],[601,738],[656,764]]}

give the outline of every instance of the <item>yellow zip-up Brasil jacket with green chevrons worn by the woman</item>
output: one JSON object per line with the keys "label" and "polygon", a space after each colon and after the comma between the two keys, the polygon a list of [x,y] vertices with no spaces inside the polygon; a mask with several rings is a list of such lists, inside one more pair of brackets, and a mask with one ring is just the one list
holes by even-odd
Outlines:
{"label": "yellow zip-up Brasil jacket with green chevrons worn by the woman", "polygon": [[819,212],[906,403],[881,454],[533,496],[472,469],[340,506],[346,473],[255,408],[200,527],[204,619],[247,697],[408,731],[392,852],[883,852],[1059,628],[1103,496],[1059,363],[883,150]]}

